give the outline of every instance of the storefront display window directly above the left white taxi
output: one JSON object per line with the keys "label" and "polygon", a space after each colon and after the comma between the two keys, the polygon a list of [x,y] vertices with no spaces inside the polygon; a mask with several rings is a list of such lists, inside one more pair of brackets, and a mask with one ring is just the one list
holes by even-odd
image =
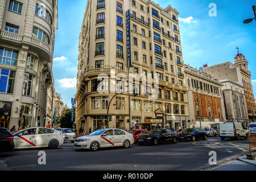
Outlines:
{"label": "storefront display window directly above the left white taxi", "polygon": [[32,104],[20,103],[19,130],[32,126],[32,108]]}

